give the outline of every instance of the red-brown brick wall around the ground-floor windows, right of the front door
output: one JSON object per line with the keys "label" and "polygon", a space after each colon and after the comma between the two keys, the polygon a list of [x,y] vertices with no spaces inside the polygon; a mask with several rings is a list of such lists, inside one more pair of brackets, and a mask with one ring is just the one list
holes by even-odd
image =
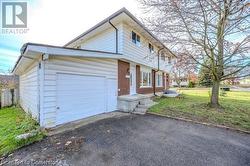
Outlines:
{"label": "red-brown brick wall around the ground-floor windows, right of the front door", "polygon": [[[152,87],[150,88],[140,88],[140,81],[141,81],[141,72],[140,72],[140,66],[136,65],[136,93],[139,94],[147,94],[147,93],[153,93],[153,87],[154,87],[154,83],[155,83],[155,72],[154,70],[152,70]],[[163,79],[163,86],[165,85],[165,81],[164,81],[164,77],[162,77]],[[164,87],[156,87],[156,92],[161,92],[163,91],[165,88]]]}

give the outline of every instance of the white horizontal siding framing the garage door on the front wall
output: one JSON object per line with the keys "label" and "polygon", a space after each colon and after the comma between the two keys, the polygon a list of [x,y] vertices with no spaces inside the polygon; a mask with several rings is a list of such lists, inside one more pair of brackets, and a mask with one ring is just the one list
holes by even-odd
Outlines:
{"label": "white horizontal siding framing the garage door on the front wall", "polygon": [[[96,58],[71,58],[71,57],[53,57],[45,61],[44,70],[44,100],[43,100],[43,125],[53,127],[56,125],[56,81],[57,74],[80,74],[88,76],[103,76],[107,80],[108,106],[107,111],[116,109],[117,96],[117,60],[96,59]],[[109,101],[112,100],[112,101]]]}

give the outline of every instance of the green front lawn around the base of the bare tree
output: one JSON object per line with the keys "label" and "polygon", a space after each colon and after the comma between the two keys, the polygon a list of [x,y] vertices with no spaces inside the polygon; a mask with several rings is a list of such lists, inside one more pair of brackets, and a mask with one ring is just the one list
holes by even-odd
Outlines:
{"label": "green front lawn around the base of the bare tree", "polygon": [[209,89],[185,89],[181,92],[184,99],[155,98],[158,104],[149,111],[250,131],[250,92],[226,92],[225,96],[220,96],[221,110],[208,106]]}

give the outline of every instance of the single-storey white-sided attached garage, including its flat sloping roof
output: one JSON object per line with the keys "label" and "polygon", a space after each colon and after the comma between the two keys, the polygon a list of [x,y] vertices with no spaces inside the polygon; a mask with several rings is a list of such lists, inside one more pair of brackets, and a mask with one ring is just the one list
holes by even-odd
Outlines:
{"label": "single-storey white-sided attached garage, including its flat sloping roof", "polygon": [[36,44],[23,51],[14,69],[20,105],[42,127],[117,110],[120,55]]}

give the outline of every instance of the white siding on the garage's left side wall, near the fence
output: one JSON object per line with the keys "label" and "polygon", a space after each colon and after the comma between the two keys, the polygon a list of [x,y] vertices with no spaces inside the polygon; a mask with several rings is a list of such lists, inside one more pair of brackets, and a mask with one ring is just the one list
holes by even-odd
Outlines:
{"label": "white siding on the garage's left side wall, near the fence", "polygon": [[39,86],[38,86],[38,63],[34,62],[19,77],[20,105],[23,110],[30,113],[36,120],[39,118]]}

